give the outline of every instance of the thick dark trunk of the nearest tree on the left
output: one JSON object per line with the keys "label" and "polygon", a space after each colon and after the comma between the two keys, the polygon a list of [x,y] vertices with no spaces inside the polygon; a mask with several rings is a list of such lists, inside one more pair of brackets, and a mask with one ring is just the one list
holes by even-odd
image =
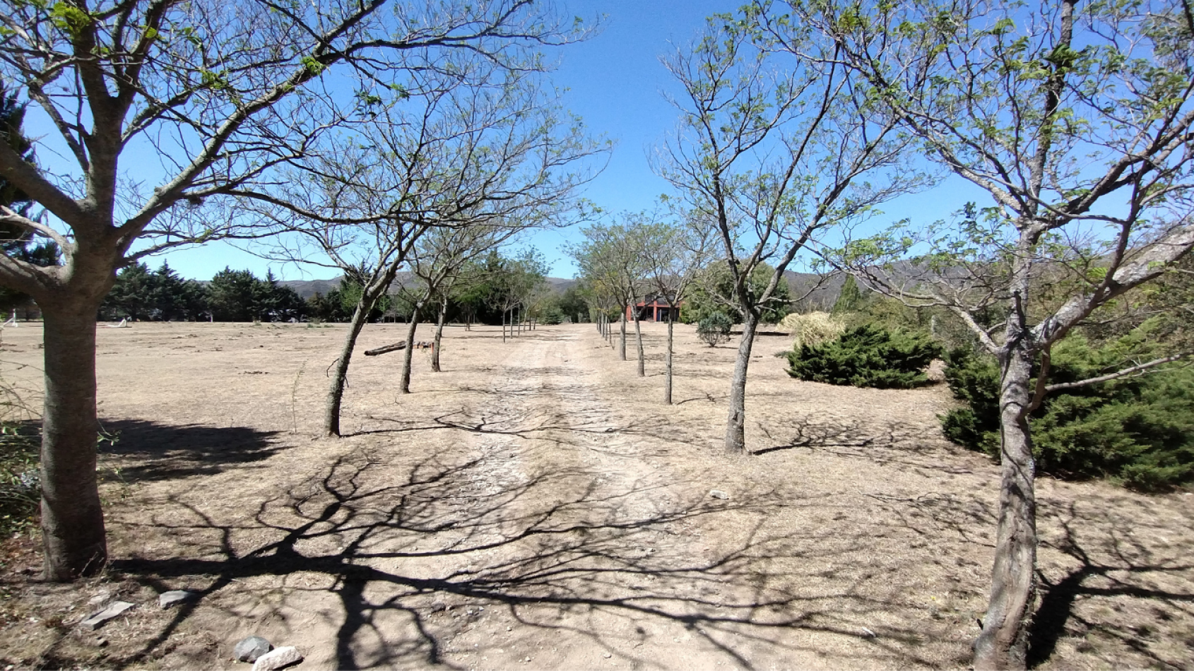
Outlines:
{"label": "thick dark trunk of the nearest tree on the left", "polygon": [[107,561],[96,478],[96,313],[99,302],[42,307],[45,405],[42,417],[44,578],[94,575]]}

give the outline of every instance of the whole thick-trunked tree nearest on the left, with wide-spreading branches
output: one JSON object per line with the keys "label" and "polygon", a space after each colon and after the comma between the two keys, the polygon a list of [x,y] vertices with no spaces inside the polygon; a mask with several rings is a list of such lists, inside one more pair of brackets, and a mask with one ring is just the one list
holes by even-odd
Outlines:
{"label": "whole thick-trunked tree nearest on the left, with wide-spreading branches", "polygon": [[[44,115],[66,154],[37,170],[0,143],[0,176],[48,215],[4,209],[0,218],[62,250],[61,265],[48,267],[0,256],[0,284],[33,296],[45,319],[42,528],[54,580],[93,574],[107,559],[96,482],[96,313],[117,269],[172,246],[246,235],[234,211],[219,210],[220,196],[340,124],[351,99],[333,91],[400,88],[412,70],[451,69],[456,54],[525,69],[540,45],[583,37],[529,0],[0,7],[0,76]],[[160,168],[122,172],[133,149],[156,150]]]}

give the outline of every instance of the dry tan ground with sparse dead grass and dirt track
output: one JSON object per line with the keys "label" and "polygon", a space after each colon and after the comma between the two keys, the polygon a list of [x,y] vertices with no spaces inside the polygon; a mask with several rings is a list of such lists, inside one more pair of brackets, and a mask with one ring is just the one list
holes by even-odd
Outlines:
{"label": "dry tan ground with sparse dead grass and dirt track", "polygon": [[[947,392],[796,382],[763,336],[752,454],[727,458],[736,343],[677,328],[669,407],[646,331],[645,378],[587,325],[450,327],[445,371],[418,352],[410,395],[399,353],[362,356],[327,439],[343,326],[101,327],[113,561],[45,585],[7,541],[0,664],[247,669],[232,647],[260,634],[300,669],[965,667],[997,469],[941,438]],[[4,332],[7,378],[39,387],[39,338]],[[1034,664],[1194,667],[1194,497],[1039,495]],[[158,609],[170,589],[202,596]],[[78,627],[105,598],[139,605]]]}

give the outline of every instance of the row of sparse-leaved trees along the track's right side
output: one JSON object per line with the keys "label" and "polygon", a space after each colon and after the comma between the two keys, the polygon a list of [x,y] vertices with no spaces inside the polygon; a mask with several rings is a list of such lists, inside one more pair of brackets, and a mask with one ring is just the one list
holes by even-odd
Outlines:
{"label": "row of sparse-leaved trees along the track's right side", "polygon": [[[977,669],[1027,664],[1038,547],[1032,417],[1051,394],[1187,353],[1175,340],[1153,358],[1067,365],[1078,378],[1050,382],[1066,336],[1175,272],[1194,247],[1192,44],[1194,14],[1181,1],[787,1],[712,18],[664,60],[681,90],[681,123],[654,167],[676,189],[673,229],[712,240],[743,324],[727,453],[745,450],[758,326],[801,261],[944,310],[991,357],[997,383],[981,388],[995,398],[973,431],[987,443],[998,436],[1001,498]],[[990,202],[948,222],[912,217],[875,233],[885,203],[944,181],[970,183]],[[577,254],[610,261],[584,272],[623,304],[635,300],[629,278],[669,265],[618,265],[634,217],[591,229]],[[751,282],[761,269],[765,281]],[[665,275],[652,290],[683,294],[684,270]]]}

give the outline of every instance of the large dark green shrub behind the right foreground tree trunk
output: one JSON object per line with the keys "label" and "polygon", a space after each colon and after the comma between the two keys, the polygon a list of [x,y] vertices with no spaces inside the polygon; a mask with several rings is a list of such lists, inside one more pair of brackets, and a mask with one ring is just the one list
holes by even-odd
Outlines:
{"label": "large dark green shrub behind the right foreground tree trunk", "polygon": [[[1050,382],[1115,370],[1125,355],[1147,345],[1146,328],[1102,347],[1071,336],[1052,351]],[[949,352],[946,363],[946,381],[966,404],[942,417],[946,436],[997,458],[998,367],[991,357],[966,351]],[[1194,481],[1194,370],[1176,368],[1050,394],[1029,425],[1041,473],[1107,478],[1143,491]]]}

